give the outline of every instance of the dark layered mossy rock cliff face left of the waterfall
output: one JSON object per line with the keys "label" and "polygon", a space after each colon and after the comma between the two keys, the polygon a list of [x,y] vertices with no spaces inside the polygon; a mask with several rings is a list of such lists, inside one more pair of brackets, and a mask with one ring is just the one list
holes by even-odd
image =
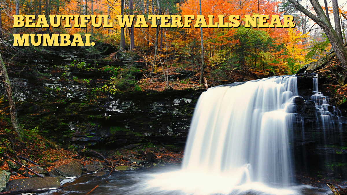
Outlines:
{"label": "dark layered mossy rock cliff face left of the waterfall", "polygon": [[[83,47],[53,47],[34,52],[30,57],[35,57],[34,61],[27,62],[28,56],[16,59],[31,64],[25,65],[24,71],[19,71],[23,69],[20,65],[9,72],[25,128],[39,126],[42,134],[64,144],[71,141],[113,148],[151,142],[184,146],[195,103],[203,91],[100,93],[95,89],[102,88],[112,74],[95,69],[86,56]],[[119,53],[115,61],[102,59],[96,63],[97,67],[132,63],[140,70],[143,66]],[[175,79],[192,76],[177,72]],[[3,89],[0,94],[5,95]]]}

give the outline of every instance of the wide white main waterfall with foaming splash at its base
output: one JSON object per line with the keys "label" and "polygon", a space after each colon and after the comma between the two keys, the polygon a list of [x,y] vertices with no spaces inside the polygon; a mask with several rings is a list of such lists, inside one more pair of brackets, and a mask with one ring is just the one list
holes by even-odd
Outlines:
{"label": "wide white main waterfall with foaming splash at its base", "polygon": [[196,105],[182,170],[156,175],[150,186],[186,194],[292,194],[285,188],[294,180],[290,125],[297,95],[295,76],[209,88]]}

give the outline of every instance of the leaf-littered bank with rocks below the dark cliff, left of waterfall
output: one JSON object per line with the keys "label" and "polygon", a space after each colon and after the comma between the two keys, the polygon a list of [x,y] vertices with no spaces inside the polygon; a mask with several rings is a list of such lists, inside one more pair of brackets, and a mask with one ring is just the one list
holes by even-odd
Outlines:
{"label": "leaf-littered bank with rocks below the dark cliff, left of waterfall", "polygon": [[[75,160],[83,166],[86,164],[102,164],[103,168],[99,171],[110,171],[114,168],[117,170],[119,166],[124,169],[124,166],[135,170],[142,167],[165,166],[166,164],[180,163],[183,158],[183,149],[170,146],[155,146],[139,145],[132,149],[117,149],[117,150],[95,150],[102,154],[106,160],[103,160],[99,155],[95,155],[88,149],[81,149],[77,145],[60,145],[49,141],[40,136],[35,129],[25,130],[25,141],[19,141],[16,133],[11,130],[9,123],[0,119],[0,170],[11,172],[10,180],[22,179],[27,177],[37,177],[32,172],[21,167],[13,169],[8,162],[13,162],[6,156],[18,162],[26,163],[26,167],[35,167],[39,164],[40,167],[47,170],[49,173],[54,168],[68,164]],[[6,155],[6,156],[5,156]],[[27,158],[30,161],[23,161],[18,156]],[[105,162],[108,163],[105,163]],[[136,161],[136,162],[135,162]],[[100,162],[100,163],[99,163]],[[13,162],[15,163],[15,162]],[[86,172],[85,172],[86,173]]]}

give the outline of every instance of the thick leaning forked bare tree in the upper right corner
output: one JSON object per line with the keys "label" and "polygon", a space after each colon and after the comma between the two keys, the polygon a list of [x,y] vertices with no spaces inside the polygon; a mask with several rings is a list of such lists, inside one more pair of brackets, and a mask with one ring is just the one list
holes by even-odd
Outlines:
{"label": "thick leaning forked bare tree in the upper right corner", "polygon": [[[310,17],[315,23],[317,23],[327,35],[332,49],[335,51],[337,58],[341,62],[342,66],[347,67],[347,50],[342,45],[339,36],[336,31],[332,28],[332,26],[328,22],[327,16],[324,14],[324,11],[319,4],[318,0],[310,0],[313,9],[315,10],[317,16],[312,14],[310,11],[305,9],[300,3],[295,0],[288,0],[289,2],[295,5],[296,9],[303,12],[306,16]],[[335,18],[335,17],[334,17]]]}

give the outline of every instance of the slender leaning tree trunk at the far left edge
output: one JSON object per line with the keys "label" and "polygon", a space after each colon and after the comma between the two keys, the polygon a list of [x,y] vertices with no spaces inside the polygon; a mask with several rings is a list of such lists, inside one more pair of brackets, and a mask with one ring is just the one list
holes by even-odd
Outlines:
{"label": "slender leaning tree trunk at the far left edge", "polygon": [[16,131],[20,141],[22,141],[25,138],[25,134],[22,127],[20,127],[20,124],[17,118],[16,102],[12,93],[10,79],[8,78],[6,66],[2,60],[1,53],[0,53],[0,76],[1,76],[2,84],[5,86],[5,89],[6,89],[8,104],[10,105],[10,115],[11,115],[11,123],[12,123],[13,129]]}

